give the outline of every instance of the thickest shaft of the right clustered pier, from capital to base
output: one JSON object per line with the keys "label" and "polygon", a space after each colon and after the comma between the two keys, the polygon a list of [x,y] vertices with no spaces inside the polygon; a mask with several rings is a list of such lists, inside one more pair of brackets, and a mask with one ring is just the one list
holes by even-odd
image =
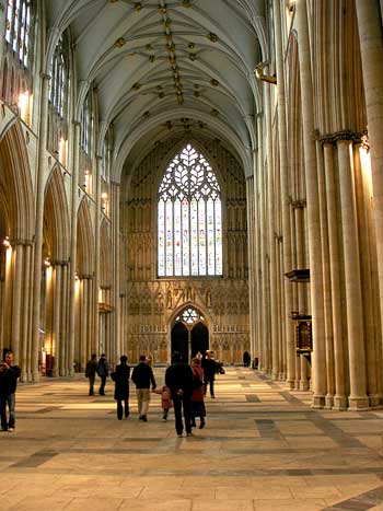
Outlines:
{"label": "thickest shaft of the right clustered pier, from capital to base", "polygon": [[365,346],[360,281],[359,239],[353,188],[352,146],[338,140],[339,187],[347,302],[347,335],[350,373],[350,409],[367,409]]}

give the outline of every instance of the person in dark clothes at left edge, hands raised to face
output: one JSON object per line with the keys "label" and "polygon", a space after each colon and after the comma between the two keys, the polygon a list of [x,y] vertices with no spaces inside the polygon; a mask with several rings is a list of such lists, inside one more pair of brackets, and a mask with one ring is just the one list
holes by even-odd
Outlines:
{"label": "person in dark clothes at left edge, hands raised to face", "polygon": [[[0,416],[1,431],[14,431],[16,415],[16,387],[21,374],[19,365],[13,363],[13,352],[7,351],[5,360],[0,363]],[[9,420],[7,419],[7,405],[9,408]]]}

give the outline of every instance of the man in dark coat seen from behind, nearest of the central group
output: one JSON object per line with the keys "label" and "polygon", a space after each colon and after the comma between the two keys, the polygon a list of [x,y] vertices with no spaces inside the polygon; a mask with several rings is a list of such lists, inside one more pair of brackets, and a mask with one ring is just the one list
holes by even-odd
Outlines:
{"label": "man in dark coat seen from behind, nearest of the central group", "polygon": [[178,437],[183,435],[183,411],[187,437],[192,435],[192,393],[193,371],[190,365],[183,363],[178,352],[173,353],[173,363],[166,369],[165,385],[172,393],[174,405],[175,429]]}

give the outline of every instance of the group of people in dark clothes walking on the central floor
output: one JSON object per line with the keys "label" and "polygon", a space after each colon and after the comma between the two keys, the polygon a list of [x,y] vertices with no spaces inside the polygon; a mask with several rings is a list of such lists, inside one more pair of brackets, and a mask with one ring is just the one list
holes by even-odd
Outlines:
{"label": "group of people in dark clothes walking on the central floor", "polygon": [[[200,355],[200,353],[197,353]],[[161,395],[162,420],[166,421],[169,410],[173,406],[175,429],[178,437],[183,435],[184,430],[188,437],[192,435],[192,428],[196,427],[196,419],[199,418],[199,428],[206,425],[205,396],[209,387],[210,396],[214,398],[214,379],[217,363],[210,351],[206,352],[205,358],[197,356],[192,359],[190,365],[183,362],[178,352],[173,353],[173,363],[166,369],[165,382],[161,387],[156,386],[153,370],[151,368],[150,357],[141,355],[139,363],[131,372],[131,380],[136,385],[136,396],[138,403],[139,420],[148,421],[148,410],[151,392]],[[105,382],[109,374],[109,368],[106,362],[105,353],[100,360],[92,355],[86,364],[85,376],[90,381],[89,395],[94,395],[95,375],[101,378],[100,395],[105,395]],[[117,402],[117,419],[123,420],[129,417],[129,381],[130,367],[128,358],[123,355],[120,363],[116,365],[111,373],[115,383],[114,398]]]}

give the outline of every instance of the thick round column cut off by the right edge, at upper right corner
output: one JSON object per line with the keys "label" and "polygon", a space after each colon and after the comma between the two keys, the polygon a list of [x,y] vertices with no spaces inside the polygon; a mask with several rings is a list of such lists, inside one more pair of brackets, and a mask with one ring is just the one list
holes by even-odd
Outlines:
{"label": "thick round column cut off by the right edge, at upper right corner", "polygon": [[[383,37],[378,1],[356,1],[371,151],[378,274],[383,325]],[[382,2],[381,2],[382,7]]]}

